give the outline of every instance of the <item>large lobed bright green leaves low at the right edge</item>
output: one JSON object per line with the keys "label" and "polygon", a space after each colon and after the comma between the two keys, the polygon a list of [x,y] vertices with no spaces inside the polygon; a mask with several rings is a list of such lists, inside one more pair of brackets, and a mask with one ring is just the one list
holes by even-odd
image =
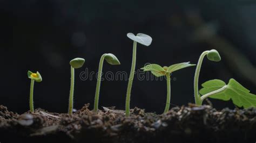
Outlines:
{"label": "large lobed bright green leaves low at the right edge", "polygon": [[[221,80],[210,80],[202,84],[204,88],[202,88],[199,92],[201,95],[205,95],[212,91],[223,88],[225,85],[226,83]],[[256,95],[251,94],[250,90],[243,87],[233,78],[230,79],[223,91],[220,91],[209,97],[214,99],[221,99],[223,101],[232,99],[233,103],[239,107],[256,107]]]}

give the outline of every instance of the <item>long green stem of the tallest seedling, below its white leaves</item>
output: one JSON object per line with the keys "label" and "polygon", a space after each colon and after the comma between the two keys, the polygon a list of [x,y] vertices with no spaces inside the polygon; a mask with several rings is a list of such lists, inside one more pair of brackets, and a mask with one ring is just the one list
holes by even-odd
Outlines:
{"label": "long green stem of the tallest seedling, below its white leaves", "polygon": [[127,85],[126,100],[125,100],[125,116],[126,117],[130,116],[130,96],[131,96],[131,90],[132,90],[134,71],[136,67],[136,50],[137,50],[137,42],[133,41],[132,67],[131,67],[131,73],[129,76],[129,82]]}

